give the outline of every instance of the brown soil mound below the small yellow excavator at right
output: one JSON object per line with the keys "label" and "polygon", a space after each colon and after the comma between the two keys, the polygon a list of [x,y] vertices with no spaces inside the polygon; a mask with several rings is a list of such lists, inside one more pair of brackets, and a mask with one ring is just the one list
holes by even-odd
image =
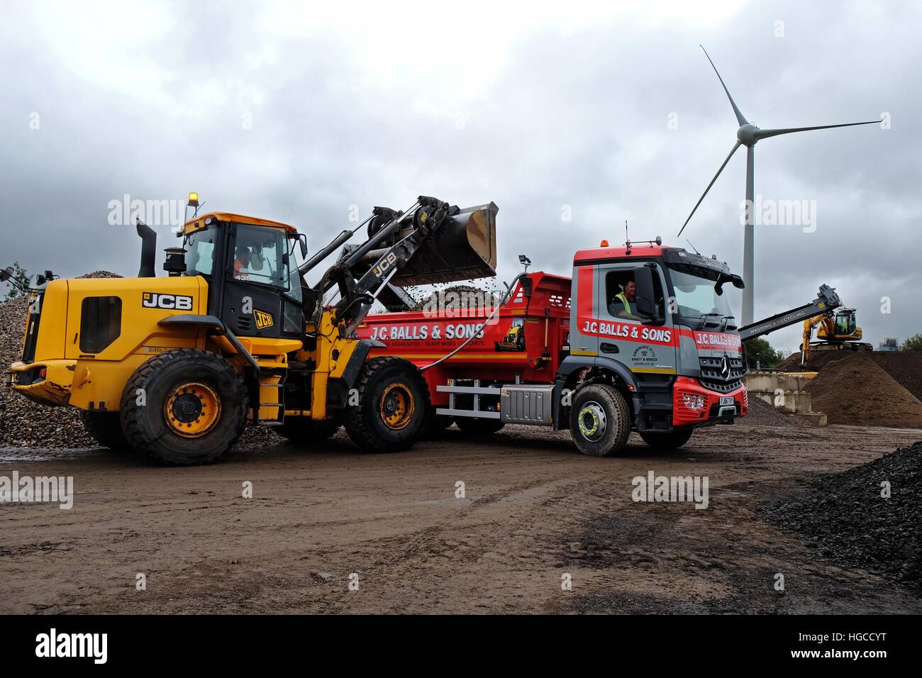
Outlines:
{"label": "brown soil mound below the small yellow excavator at right", "polygon": [[922,401],[865,353],[826,364],[807,390],[830,423],[922,428]]}

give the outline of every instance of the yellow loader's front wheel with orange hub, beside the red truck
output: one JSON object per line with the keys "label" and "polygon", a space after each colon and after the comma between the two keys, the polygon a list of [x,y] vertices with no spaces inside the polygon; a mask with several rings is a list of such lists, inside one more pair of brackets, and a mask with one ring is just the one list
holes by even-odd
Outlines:
{"label": "yellow loader's front wheel with orange hub, beside the red truck", "polygon": [[349,438],[370,452],[408,449],[423,431],[426,382],[412,364],[396,356],[373,358],[361,368],[359,404],[346,410]]}

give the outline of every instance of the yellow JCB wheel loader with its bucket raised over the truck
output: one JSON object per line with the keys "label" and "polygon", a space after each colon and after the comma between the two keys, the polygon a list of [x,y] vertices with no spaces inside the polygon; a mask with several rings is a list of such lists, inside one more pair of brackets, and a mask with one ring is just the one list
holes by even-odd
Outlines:
{"label": "yellow JCB wheel loader with its bucket raised over the truck", "polygon": [[[183,247],[166,250],[167,276],[155,277],[156,234],[138,222],[137,278],[38,277],[11,387],[79,408],[100,445],[165,464],[214,461],[248,420],[304,446],[340,426],[370,451],[411,446],[428,410],[426,382],[408,361],[368,360],[382,344],[355,329],[385,292],[495,275],[496,206],[420,196],[405,211],[374,208],[310,258],[289,225],[199,216],[195,194],[189,208]],[[318,283],[305,281],[366,225],[363,244],[343,247]],[[0,280],[21,285],[9,269]]]}

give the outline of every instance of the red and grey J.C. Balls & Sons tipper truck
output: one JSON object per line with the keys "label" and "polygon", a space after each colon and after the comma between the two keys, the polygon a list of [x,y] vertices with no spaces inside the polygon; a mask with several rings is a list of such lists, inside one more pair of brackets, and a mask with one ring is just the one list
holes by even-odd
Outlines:
{"label": "red and grey J.C. Balls & Sons tipper truck", "polygon": [[[598,457],[626,446],[633,430],[650,446],[673,449],[695,428],[732,423],[748,410],[727,282],[743,285],[727,264],[659,239],[603,241],[576,253],[572,279],[520,278],[487,324],[489,305],[457,308],[442,299],[422,311],[368,315],[358,334],[374,341],[372,355],[399,356],[423,371],[430,402],[421,406],[435,428],[569,429],[583,453]],[[632,300],[622,293],[629,283]]]}

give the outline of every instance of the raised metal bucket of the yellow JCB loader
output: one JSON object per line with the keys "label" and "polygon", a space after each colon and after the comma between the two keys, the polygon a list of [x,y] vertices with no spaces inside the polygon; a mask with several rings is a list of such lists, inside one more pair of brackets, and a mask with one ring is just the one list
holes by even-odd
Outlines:
{"label": "raised metal bucket of the yellow JCB loader", "polygon": [[462,208],[446,217],[416,256],[396,272],[391,284],[431,285],[496,275],[496,213],[494,203]]}

